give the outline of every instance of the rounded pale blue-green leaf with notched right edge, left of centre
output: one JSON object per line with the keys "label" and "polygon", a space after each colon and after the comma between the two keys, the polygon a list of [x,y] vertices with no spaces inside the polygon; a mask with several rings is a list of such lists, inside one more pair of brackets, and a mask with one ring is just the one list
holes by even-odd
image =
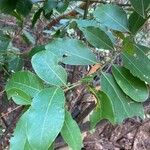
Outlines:
{"label": "rounded pale blue-green leaf with notched right edge, left of centre", "polygon": [[58,62],[57,57],[47,50],[36,53],[31,61],[35,72],[45,82],[57,86],[66,86],[67,73],[62,66],[58,65]]}

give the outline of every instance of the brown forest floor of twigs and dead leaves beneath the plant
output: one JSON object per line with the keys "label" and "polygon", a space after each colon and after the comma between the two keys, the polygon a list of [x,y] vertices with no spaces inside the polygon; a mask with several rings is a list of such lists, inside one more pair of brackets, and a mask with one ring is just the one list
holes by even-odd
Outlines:
{"label": "brown forest floor of twigs and dead leaves beneath the plant", "polygon": [[[15,26],[12,20],[9,21],[7,19],[7,23],[8,22]],[[2,23],[0,22],[0,26],[1,25]],[[39,29],[41,31],[39,31]],[[38,37],[37,44],[42,44],[47,41],[41,36],[42,30],[43,27],[37,26],[33,31]],[[30,46],[26,46],[24,42],[20,41],[18,37],[15,37],[13,42],[14,45],[22,51],[30,48]],[[30,60],[28,58],[25,59],[25,67],[31,69]],[[69,74],[68,80],[73,83],[88,73],[87,67],[65,66],[65,68]],[[0,91],[2,91],[5,86],[3,75],[4,72],[0,72]],[[89,124],[84,126],[84,123],[88,122],[89,117],[86,110],[93,107],[90,104],[92,99],[91,95],[85,90],[84,86],[81,86],[69,91],[67,93],[67,99],[69,101],[69,110],[82,128],[82,135],[84,137],[83,150],[150,150],[149,101],[144,104],[146,118],[143,120],[137,117],[126,119],[122,124],[115,126],[106,120],[102,120],[97,125],[95,131],[87,131]],[[0,93],[0,150],[9,149],[9,139],[12,136],[16,122],[23,109],[24,107],[17,106],[12,101],[8,102],[6,95]],[[84,111],[81,112],[81,110]],[[61,139],[57,140],[56,149],[68,150],[68,147],[65,146]]]}

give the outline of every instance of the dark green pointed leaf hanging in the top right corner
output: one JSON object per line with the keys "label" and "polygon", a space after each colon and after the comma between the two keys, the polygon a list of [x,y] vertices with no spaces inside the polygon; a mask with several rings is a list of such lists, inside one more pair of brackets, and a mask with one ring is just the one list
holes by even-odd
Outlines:
{"label": "dark green pointed leaf hanging in the top right corner", "polygon": [[150,5],[149,0],[130,0],[132,6],[134,7],[135,11],[141,15],[143,18],[146,17],[147,8]]}

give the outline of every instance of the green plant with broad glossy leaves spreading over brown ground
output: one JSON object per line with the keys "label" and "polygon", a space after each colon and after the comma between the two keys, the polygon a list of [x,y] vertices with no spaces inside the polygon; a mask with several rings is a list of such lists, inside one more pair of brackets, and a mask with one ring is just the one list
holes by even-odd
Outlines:
{"label": "green plant with broad glossy leaves spreading over brown ground", "polygon": [[[15,16],[23,36],[30,44],[35,45],[34,37],[23,29],[24,17],[29,15],[32,7],[37,9],[38,6],[32,19],[34,27],[42,14],[49,19],[54,11],[64,12],[71,1],[46,0],[33,4],[30,0],[0,0],[0,10]],[[103,4],[98,5],[88,16],[91,3]],[[27,108],[10,140],[11,150],[53,149],[53,142],[59,133],[72,149],[81,149],[80,129],[65,106],[65,92],[80,84],[85,84],[97,99],[96,107],[90,116],[92,128],[102,119],[116,124],[125,118],[144,117],[142,102],[149,96],[150,49],[139,45],[135,37],[149,18],[150,1],[139,0],[135,3],[130,0],[130,3],[116,5],[87,0],[84,4],[84,19],[69,19],[57,30],[62,34],[55,32],[48,44],[35,46],[23,53],[10,44],[10,33],[0,32],[2,68],[6,67],[9,72],[9,68],[14,67],[8,57],[21,65],[10,69],[14,73],[9,76],[5,91],[8,99],[11,98],[16,104],[25,105]],[[69,29],[74,32],[80,30],[80,40],[64,33]],[[116,39],[122,43],[118,44]],[[102,50],[113,52],[108,62],[77,83],[67,82],[67,72],[62,64],[101,64],[94,52],[99,53]],[[13,57],[8,55],[10,53]],[[24,57],[32,57],[31,64],[35,73],[22,70],[20,60]],[[115,64],[117,58],[121,59],[120,65]],[[106,65],[112,68],[111,73],[105,69]],[[100,90],[96,90],[92,84],[95,75],[101,79]]]}

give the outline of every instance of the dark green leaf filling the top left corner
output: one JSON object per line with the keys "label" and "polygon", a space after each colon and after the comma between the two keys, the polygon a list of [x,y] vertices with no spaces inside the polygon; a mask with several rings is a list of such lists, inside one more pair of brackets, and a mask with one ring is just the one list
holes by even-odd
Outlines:
{"label": "dark green leaf filling the top left corner", "polygon": [[0,11],[3,13],[12,13],[16,7],[16,0],[0,0]]}

